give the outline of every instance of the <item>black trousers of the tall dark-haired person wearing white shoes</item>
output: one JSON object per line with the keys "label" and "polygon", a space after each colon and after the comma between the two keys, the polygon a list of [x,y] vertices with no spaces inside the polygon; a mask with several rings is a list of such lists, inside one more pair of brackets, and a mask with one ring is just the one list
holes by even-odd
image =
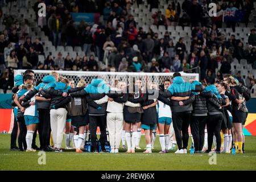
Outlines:
{"label": "black trousers of the tall dark-haired person wearing white shoes", "polygon": [[187,149],[188,147],[188,126],[190,118],[191,113],[172,113],[172,122],[174,122],[175,137],[179,150]]}

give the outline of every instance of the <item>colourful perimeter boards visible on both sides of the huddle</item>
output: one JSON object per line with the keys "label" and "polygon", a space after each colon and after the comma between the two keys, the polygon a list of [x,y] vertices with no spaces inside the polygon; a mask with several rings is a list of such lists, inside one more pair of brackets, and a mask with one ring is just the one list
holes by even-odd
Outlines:
{"label": "colourful perimeter boards visible on both sides of the huddle", "polygon": [[[0,94],[0,133],[6,131],[11,133],[13,129],[13,109],[11,107],[12,94]],[[256,136],[256,98],[246,102],[249,110],[243,133],[247,136]]]}

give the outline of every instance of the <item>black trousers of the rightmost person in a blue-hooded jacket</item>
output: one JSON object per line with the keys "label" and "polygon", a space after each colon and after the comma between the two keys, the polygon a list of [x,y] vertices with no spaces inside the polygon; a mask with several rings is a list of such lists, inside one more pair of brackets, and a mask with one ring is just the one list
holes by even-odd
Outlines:
{"label": "black trousers of the rightmost person in a blue-hooded jacket", "polygon": [[222,114],[209,115],[207,119],[207,133],[208,133],[208,151],[212,150],[213,134],[216,137],[216,151],[221,148],[221,121]]}

